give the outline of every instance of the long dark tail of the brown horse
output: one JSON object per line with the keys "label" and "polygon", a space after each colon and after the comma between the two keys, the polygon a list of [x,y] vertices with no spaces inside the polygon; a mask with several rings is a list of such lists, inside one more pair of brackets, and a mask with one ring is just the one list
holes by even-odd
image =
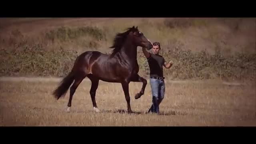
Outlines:
{"label": "long dark tail of the brown horse", "polygon": [[53,95],[57,100],[65,96],[74,79],[74,72],[72,71],[60,82],[60,85],[53,92]]}

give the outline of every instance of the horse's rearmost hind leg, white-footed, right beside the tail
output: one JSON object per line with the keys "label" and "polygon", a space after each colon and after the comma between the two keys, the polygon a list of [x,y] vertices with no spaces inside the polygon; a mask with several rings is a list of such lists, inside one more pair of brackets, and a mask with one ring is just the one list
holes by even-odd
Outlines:
{"label": "horse's rearmost hind leg, white-footed, right beside the tail", "polygon": [[72,103],[72,98],[74,93],[76,92],[76,88],[79,86],[79,84],[82,82],[82,80],[86,77],[86,75],[84,76],[77,76],[75,78],[75,82],[72,84],[72,86],[70,87],[70,96],[69,96],[69,100],[68,100],[68,108],[66,110],[66,112],[70,112],[70,108],[71,108],[71,103]]}

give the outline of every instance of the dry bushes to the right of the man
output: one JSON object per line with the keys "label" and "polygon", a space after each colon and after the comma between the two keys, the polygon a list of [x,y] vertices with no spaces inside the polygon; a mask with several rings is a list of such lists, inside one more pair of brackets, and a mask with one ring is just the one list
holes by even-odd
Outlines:
{"label": "dry bushes to the right of the man", "polygon": [[193,54],[189,50],[169,48],[164,57],[174,61],[172,70],[165,70],[166,74],[169,74],[172,78],[256,79],[256,54],[236,53],[231,56],[224,56],[216,51],[214,55],[209,55],[206,50]]}

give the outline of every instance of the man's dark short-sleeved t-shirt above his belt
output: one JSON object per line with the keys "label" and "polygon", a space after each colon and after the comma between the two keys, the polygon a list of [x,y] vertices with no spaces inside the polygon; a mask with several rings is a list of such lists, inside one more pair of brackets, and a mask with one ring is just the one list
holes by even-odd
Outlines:
{"label": "man's dark short-sleeved t-shirt above his belt", "polygon": [[163,74],[163,65],[164,65],[164,57],[156,54],[150,53],[150,57],[148,59],[148,65],[150,69],[150,76],[164,77]]}

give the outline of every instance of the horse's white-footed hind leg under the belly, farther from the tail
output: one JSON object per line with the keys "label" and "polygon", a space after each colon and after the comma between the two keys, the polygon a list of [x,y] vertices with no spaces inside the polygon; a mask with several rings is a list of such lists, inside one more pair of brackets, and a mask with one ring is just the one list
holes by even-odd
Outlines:
{"label": "horse's white-footed hind leg under the belly, farther from the tail", "polygon": [[96,90],[98,88],[99,85],[99,79],[93,77],[92,75],[88,75],[88,78],[91,80],[92,85],[91,85],[91,89],[90,89],[90,95],[92,98],[92,106],[93,106],[93,110],[95,112],[100,112],[100,110],[98,109],[98,106],[96,104],[96,100],[95,100],[95,96],[96,96]]}

